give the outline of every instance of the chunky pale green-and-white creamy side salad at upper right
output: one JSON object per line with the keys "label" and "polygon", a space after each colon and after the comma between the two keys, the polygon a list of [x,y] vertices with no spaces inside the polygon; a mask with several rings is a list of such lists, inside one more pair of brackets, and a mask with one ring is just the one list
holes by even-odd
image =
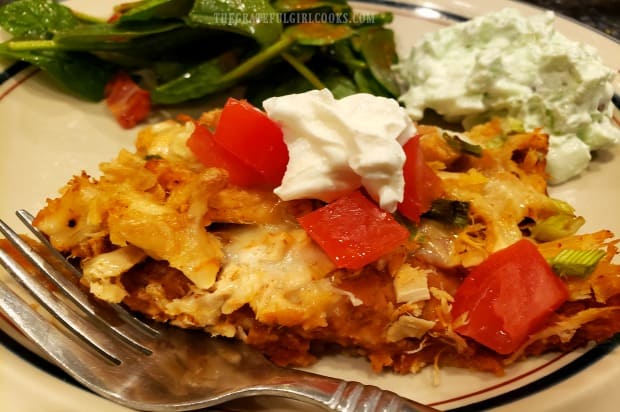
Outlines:
{"label": "chunky pale green-and-white creamy side salad at upper right", "polygon": [[592,150],[620,141],[616,73],[553,23],[552,12],[526,18],[504,9],[423,36],[398,66],[410,85],[400,100],[414,119],[430,108],[465,128],[492,116],[542,127],[550,183],[579,175]]}

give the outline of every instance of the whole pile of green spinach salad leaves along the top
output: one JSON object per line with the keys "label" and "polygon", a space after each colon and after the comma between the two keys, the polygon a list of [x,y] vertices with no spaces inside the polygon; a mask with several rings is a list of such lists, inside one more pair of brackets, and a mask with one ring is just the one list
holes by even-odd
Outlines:
{"label": "whole pile of green spinach salad leaves along the top", "polygon": [[52,0],[17,0],[0,7],[13,35],[0,56],[35,64],[89,100],[120,69],[138,71],[160,104],[238,84],[254,96],[398,94],[393,34],[382,27],[391,13],[362,21],[347,0],[142,0],[115,10],[109,23]]}

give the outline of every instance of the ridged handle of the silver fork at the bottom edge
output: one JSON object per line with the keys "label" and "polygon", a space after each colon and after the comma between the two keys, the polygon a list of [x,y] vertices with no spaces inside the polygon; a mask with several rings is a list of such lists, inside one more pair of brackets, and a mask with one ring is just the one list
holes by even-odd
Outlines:
{"label": "ridged handle of the silver fork at the bottom edge", "polygon": [[[437,412],[438,410],[405,399],[394,392],[359,382],[297,373],[291,379],[274,383],[274,395],[310,402],[337,412]],[[263,392],[263,394],[265,394]]]}

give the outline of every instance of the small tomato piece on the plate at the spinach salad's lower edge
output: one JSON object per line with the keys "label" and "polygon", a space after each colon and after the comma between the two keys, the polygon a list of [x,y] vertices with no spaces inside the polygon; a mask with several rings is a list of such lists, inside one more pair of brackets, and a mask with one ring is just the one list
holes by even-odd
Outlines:
{"label": "small tomato piece on the plate at the spinach salad's lower edge", "polygon": [[151,111],[150,93],[124,72],[119,72],[108,82],[105,98],[116,121],[125,129],[140,123]]}

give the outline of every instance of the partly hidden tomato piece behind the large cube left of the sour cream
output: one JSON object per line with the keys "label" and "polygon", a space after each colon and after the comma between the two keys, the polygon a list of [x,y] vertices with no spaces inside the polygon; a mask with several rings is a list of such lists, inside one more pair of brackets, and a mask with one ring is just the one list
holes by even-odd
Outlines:
{"label": "partly hidden tomato piece behind the large cube left of the sour cream", "polygon": [[194,132],[187,139],[187,146],[206,167],[225,169],[229,182],[234,185],[247,187],[263,181],[263,177],[256,170],[220,147],[209,129],[199,123],[196,123]]}

